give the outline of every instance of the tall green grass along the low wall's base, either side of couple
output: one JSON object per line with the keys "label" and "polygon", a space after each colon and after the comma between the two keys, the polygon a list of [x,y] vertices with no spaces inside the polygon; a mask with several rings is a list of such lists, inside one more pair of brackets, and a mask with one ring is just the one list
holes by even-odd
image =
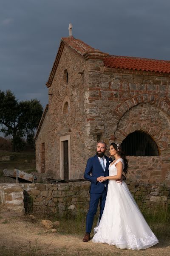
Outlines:
{"label": "tall green grass along the low wall's base, either side of couple", "polygon": [[[149,210],[146,206],[142,206],[141,211],[148,225],[158,239],[170,238],[170,206],[159,204]],[[97,217],[98,214],[94,218],[93,227],[96,226]],[[66,212],[63,217],[56,214],[52,217],[46,216],[46,218],[51,221],[60,222],[60,225],[57,227],[57,233],[78,236],[83,236],[85,233],[86,214],[81,212],[79,209],[77,211],[77,216],[71,216]]]}

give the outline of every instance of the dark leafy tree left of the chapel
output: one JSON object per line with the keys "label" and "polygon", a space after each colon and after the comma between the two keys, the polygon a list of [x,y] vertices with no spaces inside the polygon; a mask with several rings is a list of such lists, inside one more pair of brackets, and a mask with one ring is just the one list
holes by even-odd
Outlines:
{"label": "dark leafy tree left of the chapel", "polygon": [[0,131],[12,136],[13,151],[20,151],[24,137],[33,143],[41,116],[42,105],[37,99],[18,102],[10,90],[0,90]]}

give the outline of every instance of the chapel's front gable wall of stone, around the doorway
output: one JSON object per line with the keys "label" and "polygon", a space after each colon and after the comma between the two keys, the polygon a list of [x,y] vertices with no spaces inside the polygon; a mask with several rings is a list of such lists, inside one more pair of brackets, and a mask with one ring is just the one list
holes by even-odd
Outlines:
{"label": "chapel's front gable wall of stone, around the doorway", "polygon": [[[45,142],[45,174],[60,178],[59,138],[70,135],[71,139],[71,171],[70,178],[82,177],[85,162],[82,159],[86,154],[84,144],[87,140],[85,90],[87,88],[87,61],[69,47],[64,47],[51,87],[49,87],[48,121],[44,120],[44,129],[41,129],[36,141],[37,169],[40,172],[40,147]],[[68,84],[65,82],[64,70],[68,71]],[[85,72],[83,74],[79,72]],[[62,114],[62,104],[68,97],[70,111]],[[43,130],[43,131],[42,131]],[[80,168],[80,163],[82,166]],[[83,171],[82,171],[83,170]]]}

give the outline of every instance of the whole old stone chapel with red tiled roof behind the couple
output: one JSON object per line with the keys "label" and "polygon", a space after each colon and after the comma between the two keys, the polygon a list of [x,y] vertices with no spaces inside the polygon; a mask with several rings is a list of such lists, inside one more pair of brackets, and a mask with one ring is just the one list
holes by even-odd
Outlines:
{"label": "whole old stone chapel with red tiled roof behind the couple", "polygon": [[116,141],[127,154],[129,180],[170,185],[170,61],[109,55],[69,36],[46,85],[38,172],[82,179],[97,141],[108,149]]}

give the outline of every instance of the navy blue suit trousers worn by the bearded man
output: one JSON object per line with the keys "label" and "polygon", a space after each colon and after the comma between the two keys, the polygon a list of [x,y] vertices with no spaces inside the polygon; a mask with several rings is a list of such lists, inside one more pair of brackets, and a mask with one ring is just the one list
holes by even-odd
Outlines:
{"label": "navy blue suit trousers worn by the bearded man", "polygon": [[86,216],[86,233],[91,233],[94,216],[96,215],[99,201],[100,201],[100,217],[99,217],[99,221],[100,221],[103,214],[103,210],[105,208],[106,195],[107,195],[106,188],[104,188],[102,193],[90,194],[89,210]]}

